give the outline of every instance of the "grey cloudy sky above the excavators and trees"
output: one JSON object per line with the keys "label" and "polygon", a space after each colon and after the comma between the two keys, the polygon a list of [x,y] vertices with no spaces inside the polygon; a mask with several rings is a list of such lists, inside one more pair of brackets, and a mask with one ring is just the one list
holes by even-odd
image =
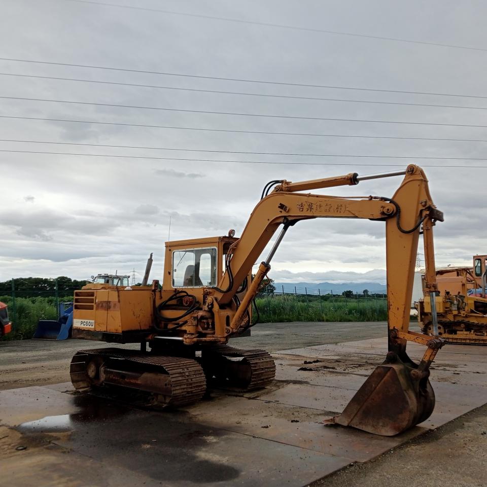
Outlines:
{"label": "grey cloudy sky above the excavators and trees", "polygon": [[[2,0],[0,9],[0,281],[143,274],[150,252],[160,277],[169,219],[171,239],[238,235],[269,180],[410,162],[425,168],[445,213],[438,265],[487,253],[485,2]],[[399,184],[331,194],[392,196]],[[384,267],[383,224],[315,220],[290,229],[270,275],[383,280]]]}

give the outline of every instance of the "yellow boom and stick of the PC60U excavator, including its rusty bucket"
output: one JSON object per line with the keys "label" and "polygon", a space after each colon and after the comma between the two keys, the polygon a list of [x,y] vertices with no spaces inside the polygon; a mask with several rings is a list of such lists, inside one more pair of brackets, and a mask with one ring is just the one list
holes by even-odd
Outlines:
{"label": "yellow boom and stick of the PC60U excavator, including its rusty bucket", "polygon": [[[435,400],[428,379],[429,367],[444,344],[438,336],[409,331],[409,307],[419,235],[424,235],[427,289],[434,303],[437,285],[433,226],[436,221],[443,221],[443,214],[433,204],[428,180],[420,167],[411,164],[404,172],[378,177],[397,175],[404,175],[404,180],[392,198],[344,198],[301,192],[356,185],[361,180],[356,174],[300,183],[281,182],[255,207],[240,239],[233,246],[221,282],[212,290],[217,308],[230,304],[272,235],[283,225],[269,256],[260,264],[245,298],[226,328],[231,336],[241,331],[246,310],[269,271],[270,261],[289,227],[300,220],[313,218],[385,221],[389,352],[384,364],[369,376],[343,413],[329,422],[388,436],[421,423],[433,411]],[[415,364],[406,353],[408,341],[427,347],[419,364]]]}

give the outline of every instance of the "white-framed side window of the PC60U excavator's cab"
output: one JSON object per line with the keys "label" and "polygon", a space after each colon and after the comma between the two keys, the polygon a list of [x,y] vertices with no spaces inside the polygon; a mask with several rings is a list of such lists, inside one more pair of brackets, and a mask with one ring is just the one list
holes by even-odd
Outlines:
{"label": "white-framed side window of the PC60U excavator's cab", "polygon": [[216,286],[217,249],[178,250],[172,253],[172,287]]}

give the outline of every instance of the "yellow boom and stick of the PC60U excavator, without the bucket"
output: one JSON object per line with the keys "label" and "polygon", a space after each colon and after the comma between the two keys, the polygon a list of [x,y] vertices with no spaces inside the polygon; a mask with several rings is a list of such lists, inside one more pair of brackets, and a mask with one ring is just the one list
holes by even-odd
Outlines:
{"label": "yellow boom and stick of the PC60U excavator, without the bucket", "polygon": [[[419,235],[423,230],[428,290],[436,292],[432,227],[437,220],[442,221],[443,216],[433,204],[428,180],[420,167],[411,164],[404,172],[390,173],[385,176],[397,175],[405,175],[405,177],[392,198],[380,196],[344,198],[295,192],[339,185],[356,185],[361,180],[373,178],[358,178],[356,173],[300,183],[284,181],[276,186],[271,194],[256,205],[240,239],[235,242],[227,270],[218,287],[212,290],[215,300],[220,306],[231,302],[242,281],[281,225],[283,225],[281,234],[269,257],[261,263],[245,302],[250,303],[255,297],[256,289],[270,269],[270,260],[277,247],[288,228],[298,221],[314,218],[360,218],[385,221],[389,328],[407,332]],[[252,290],[254,292],[250,292]],[[245,302],[242,301],[240,308],[245,307]],[[236,330],[237,325],[239,325],[238,316],[233,319],[232,331]]]}

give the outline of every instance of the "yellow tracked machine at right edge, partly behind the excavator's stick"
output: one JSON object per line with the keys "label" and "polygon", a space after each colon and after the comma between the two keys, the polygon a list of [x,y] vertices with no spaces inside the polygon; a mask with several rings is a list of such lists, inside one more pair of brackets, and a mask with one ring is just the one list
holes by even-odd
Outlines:
{"label": "yellow tracked machine at right edge, partly behind the excavator's stick", "polygon": [[[438,269],[436,280],[438,336],[448,343],[487,344],[487,255],[474,255],[472,267]],[[422,332],[433,335],[431,301],[415,305]]]}

